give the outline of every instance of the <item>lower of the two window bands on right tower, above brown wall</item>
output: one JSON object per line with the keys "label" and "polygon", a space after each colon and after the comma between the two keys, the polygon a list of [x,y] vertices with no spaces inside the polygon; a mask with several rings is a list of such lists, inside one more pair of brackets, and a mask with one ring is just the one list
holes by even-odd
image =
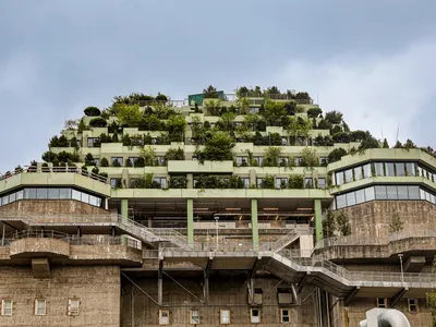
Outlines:
{"label": "lower of the two window bands on right tower, above brown wall", "polygon": [[350,207],[373,199],[426,199],[436,204],[436,196],[415,185],[376,185],[337,195],[336,208]]}

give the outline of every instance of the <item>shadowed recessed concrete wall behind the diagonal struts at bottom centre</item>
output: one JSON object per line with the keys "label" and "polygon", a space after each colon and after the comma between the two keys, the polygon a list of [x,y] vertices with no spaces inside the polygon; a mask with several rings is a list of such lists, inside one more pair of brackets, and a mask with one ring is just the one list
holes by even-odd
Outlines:
{"label": "shadowed recessed concrete wall behind the diagonal struts at bottom centre", "polygon": [[[178,282],[187,288],[199,299],[203,299],[203,287],[201,275],[193,278],[177,277],[171,274]],[[157,275],[154,278],[134,277],[144,291],[157,299]],[[255,288],[263,289],[263,305],[261,308],[261,324],[257,326],[283,326],[280,324],[280,310],[277,303],[277,287],[286,288],[287,284],[275,278],[256,278]],[[312,288],[303,290],[302,299],[306,298]],[[133,295],[132,295],[133,294]],[[250,307],[247,305],[246,275],[222,274],[210,276],[209,279],[209,305],[199,303],[180,286],[164,276],[164,304],[169,305],[170,325],[189,326],[190,310],[199,310],[201,326],[220,326],[219,310],[231,310],[231,326],[253,326],[250,323]],[[121,326],[159,326],[159,306],[152,302],[130,281],[122,279],[121,295]],[[133,311],[132,311],[133,307]],[[308,295],[302,306],[288,305],[290,308],[291,323],[287,326],[313,327],[316,325],[315,304],[313,294]],[[134,324],[132,324],[132,319]]]}

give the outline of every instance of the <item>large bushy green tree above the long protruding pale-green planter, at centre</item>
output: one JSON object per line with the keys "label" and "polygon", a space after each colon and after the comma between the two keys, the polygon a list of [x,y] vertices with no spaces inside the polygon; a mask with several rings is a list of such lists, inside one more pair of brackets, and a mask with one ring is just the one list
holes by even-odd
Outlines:
{"label": "large bushy green tree above the long protruding pale-green planter, at centre", "polygon": [[215,132],[205,143],[203,152],[206,160],[232,160],[234,140],[226,132]]}

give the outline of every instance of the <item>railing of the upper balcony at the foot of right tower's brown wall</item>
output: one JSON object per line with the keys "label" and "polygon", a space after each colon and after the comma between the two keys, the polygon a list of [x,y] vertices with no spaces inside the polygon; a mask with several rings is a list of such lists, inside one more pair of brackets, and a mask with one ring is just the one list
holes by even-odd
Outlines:
{"label": "railing of the upper balcony at the foot of right tower's brown wall", "polygon": [[318,241],[315,249],[336,245],[387,245],[390,242],[408,238],[436,238],[436,231],[412,226],[402,231],[391,233],[390,235],[377,238],[368,238],[364,235],[332,237]]}

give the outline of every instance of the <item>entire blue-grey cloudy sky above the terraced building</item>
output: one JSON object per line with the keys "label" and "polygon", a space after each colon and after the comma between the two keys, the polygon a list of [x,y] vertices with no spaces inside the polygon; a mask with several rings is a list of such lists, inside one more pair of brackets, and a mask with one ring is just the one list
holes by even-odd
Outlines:
{"label": "entire blue-grey cloudy sky above the terraced building", "polygon": [[117,95],[306,90],[352,130],[436,147],[436,1],[0,0],[0,172]]}

